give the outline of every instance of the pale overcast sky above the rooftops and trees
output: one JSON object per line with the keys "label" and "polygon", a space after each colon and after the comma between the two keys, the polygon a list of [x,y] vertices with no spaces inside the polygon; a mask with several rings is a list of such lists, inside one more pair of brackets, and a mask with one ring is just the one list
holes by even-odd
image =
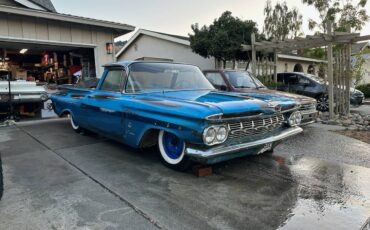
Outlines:
{"label": "pale overcast sky above the rooftops and trees", "polygon": [[[260,31],[263,27],[264,0],[52,0],[60,13],[84,16],[133,25],[137,28],[163,33],[188,35],[191,24],[209,25],[222,12],[229,10],[234,16],[257,22]],[[276,3],[272,1],[272,4]],[[303,15],[303,32],[308,29],[309,18],[317,19],[313,7],[303,5],[301,0],[286,0],[289,7],[297,7]],[[370,3],[367,5],[370,14]],[[361,31],[370,35],[370,22]],[[131,36],[120,37],[126,40]]]}

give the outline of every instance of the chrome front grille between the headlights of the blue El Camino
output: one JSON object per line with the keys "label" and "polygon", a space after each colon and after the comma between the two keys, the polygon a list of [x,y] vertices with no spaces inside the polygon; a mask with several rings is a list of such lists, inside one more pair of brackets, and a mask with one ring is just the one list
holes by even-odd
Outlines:
{"label": "chrome front grille between the headlights of the blue El Camino", "polygon": [[229,124],[229,138],[242,138],[265,134],[281,127],[284,122],[282,114]]}

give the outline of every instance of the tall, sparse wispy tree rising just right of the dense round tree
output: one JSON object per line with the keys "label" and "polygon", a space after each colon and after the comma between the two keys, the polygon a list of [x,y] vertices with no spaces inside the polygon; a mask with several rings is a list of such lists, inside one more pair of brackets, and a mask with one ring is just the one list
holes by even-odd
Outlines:
{"label": "tall, sparse wispy tree rising just right of the dense round tree", "polygon": [[289,9],[286,2],[266,2],[264,9],[265,21],[263,31],[267,38],[283,41],[301,35],[302,15],[297,8]]}

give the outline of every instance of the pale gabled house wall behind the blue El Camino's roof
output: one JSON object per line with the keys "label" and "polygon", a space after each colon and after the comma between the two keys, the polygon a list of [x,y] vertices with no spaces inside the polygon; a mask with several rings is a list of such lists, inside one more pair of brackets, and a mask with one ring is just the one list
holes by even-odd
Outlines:
{"label": "pale gabled house wall behind the blue El Camino's roof", "polygon": [[214,69],[213,58],[203,58],[192,52],[186,45],[166,41],[148,35],[139,36],[119,57],[118,61],[137,59],[165,59],[173,62],[188,63],[201,69]]}

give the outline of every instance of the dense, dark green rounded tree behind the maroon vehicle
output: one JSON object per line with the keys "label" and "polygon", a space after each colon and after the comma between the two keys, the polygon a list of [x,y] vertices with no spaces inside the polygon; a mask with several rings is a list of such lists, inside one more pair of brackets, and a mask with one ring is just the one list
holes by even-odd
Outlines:
{"label": "dense, dark green rounded tree behind the maroon vehicle", "polygon": [[259,39],[257,24],[251,20],[242,20],[232,16],[230,11],[224,12],[209,26],[191,25],[193,34],[189,34],[192,50],[202,57],[215,57],[223,62],[232,60],[249,60],[249,55],[241,51],[242,44],[251,43],[251,34]]}

